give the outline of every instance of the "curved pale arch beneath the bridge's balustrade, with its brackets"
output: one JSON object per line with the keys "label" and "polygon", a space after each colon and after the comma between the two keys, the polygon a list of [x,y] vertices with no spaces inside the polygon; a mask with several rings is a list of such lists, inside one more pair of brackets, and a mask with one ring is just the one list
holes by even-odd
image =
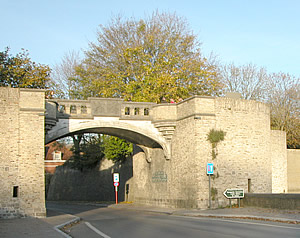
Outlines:
{"label": "curved pale arch beneath the bridge's balustrade, with its brackets", "polygon": [[166,159],[170,159],[170,144],[148,122],[123,122],[119,120],[107,120],[105,118],[99,120],[60,119],[56,126],[46,134],[45,143],[50,143],[77,132],[102,133],[126,139],[140,146],[149,162],[151,161],[150,148],[162,148]]}

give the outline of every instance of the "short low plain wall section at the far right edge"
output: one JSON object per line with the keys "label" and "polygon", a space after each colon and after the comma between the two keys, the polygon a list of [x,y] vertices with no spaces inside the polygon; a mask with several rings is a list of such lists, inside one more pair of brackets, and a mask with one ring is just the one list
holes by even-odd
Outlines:
{"label": "short low plain wall section at the far right edge", "polygon": [[287,150],[288,192],[300,193],[300,150]]}

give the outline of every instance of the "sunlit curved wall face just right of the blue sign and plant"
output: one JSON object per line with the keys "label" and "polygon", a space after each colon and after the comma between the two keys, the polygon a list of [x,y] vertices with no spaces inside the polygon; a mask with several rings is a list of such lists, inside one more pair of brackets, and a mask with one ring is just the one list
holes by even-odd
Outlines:
{"label": "sunlit curved wall face just right of the blue sign and plant", "polygon": [[217,191],[215,206],[228,204],[223,195],[226,189],[271,192],[269,108],[255,101],[216,98],[215,110],[215,129],[226,133],[217,158],[211,161],[216,167],[212,182]]}

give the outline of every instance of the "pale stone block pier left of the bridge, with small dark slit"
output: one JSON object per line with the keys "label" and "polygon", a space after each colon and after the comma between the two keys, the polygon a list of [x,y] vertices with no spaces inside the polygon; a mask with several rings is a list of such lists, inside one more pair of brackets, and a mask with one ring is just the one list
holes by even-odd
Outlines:
{"label": "pale stone block pier left of the bridge, with small dark slit", "polygon": [[0,87],[0,218],[46,215],[44,97]]}

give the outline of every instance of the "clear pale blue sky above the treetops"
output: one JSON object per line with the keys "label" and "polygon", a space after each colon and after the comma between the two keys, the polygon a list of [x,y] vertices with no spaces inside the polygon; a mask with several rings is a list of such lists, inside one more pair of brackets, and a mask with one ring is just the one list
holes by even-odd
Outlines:
{"label": "clear pale blue sky above the treetops", "polygon": [[300,77],[298,0],[0,0],[0,7],[0,51],[25,48],[50,67],[87,49],[113,16],[144,18],[158,9],[185,17],[204,54]]}

